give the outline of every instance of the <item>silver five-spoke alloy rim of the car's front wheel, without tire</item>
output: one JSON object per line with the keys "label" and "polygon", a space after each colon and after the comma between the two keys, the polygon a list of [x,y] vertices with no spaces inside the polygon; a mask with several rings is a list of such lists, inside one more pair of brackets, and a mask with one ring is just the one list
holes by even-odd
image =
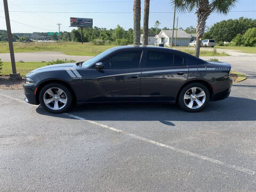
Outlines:
{"label": "silver five-spoke alloy rim of the car's front wheel, without tire", "polygon": [[58,87],[51,87],[44,93],[44,103],[52,110],[60,110],[66,106],[68,98],[67,94]]}

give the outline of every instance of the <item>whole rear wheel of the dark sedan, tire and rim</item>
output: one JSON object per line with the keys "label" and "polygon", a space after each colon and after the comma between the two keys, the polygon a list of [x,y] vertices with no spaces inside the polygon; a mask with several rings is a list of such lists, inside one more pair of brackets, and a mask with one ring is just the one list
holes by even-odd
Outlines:
{"label": "whole rear wheel of the dark sedan, tire and rim", "polygon": [[202,110],[210,99],[210,92],[201,83],[191,83],[183,87],[179,94],[179,105],[181,109],[188,112]]}

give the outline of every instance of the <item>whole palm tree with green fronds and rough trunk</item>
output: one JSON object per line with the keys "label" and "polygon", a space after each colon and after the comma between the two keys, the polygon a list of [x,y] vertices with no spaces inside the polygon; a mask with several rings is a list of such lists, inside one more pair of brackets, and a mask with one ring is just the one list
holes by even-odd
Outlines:
{"label": "whole palm tree with green fronds and rough trunk", "polygon": [[196,49],[195,56],[199,57],[201,38],[204,36],[205,23],[212,12],[227,14],[238,0],[171,0],[179,12],[196,9]]}

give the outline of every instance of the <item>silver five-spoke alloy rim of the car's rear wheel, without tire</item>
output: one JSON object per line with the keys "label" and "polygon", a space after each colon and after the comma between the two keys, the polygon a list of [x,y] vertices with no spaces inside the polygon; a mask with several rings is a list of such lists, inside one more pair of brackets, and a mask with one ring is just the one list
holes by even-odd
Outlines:
{"label": "silver five-spoke alloy rim of the car's rear wheel, without tire", "polygon": [[200,87],[191,87],[184,95],[185,105],[190,109],[198,109],[205,102],[205,92]]}

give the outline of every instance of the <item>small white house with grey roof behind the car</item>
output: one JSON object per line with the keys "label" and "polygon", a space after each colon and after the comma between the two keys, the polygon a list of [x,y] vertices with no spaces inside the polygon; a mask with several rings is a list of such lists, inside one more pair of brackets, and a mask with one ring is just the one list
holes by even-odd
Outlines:
{"label": "small white house with grey roof behind the car", "polygon": [[[173,45],[175,44],[176,30],[174,30],[173,35]],[[187,34],[183,30],[177,30],[177,40],[176,46],[188,46],[190,42],[191,35]],[[161,32],[155,36],[155,44],[164,43],[166,46],[171,46],[172,42],[172,30],[161,30]]]}

